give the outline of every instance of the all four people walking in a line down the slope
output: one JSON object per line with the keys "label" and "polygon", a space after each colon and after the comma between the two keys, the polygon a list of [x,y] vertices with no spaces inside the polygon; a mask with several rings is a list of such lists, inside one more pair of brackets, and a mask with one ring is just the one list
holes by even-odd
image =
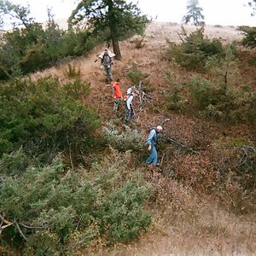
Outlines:
{"label": "all four people walking in a line down the slope", "polygon": [[[106,82],[112,81],[112,66],[113,66],[113,56],[108,49],[105,49],[104,52],[99,56],[101,59],[101,67],[104,68],[106,75]],[[126,91],[126,95],[123,96],[120,89],[120,79],[116,79],[111,86],[112,96],[114,99],[113,102],[113,111],[119,111],[120,103],[125,101],[125,119],[124,123],[127,124],[130,119],[134,119],[135,112],[133,108],[133,101],[136,96],[139,95],[139,91],[135,87],[131,87]],[[156,143],[158,135],[163,131],[163,127],[158,125],[154,127],[148,134],[148,139],[146,145],[148,147],[149,156],[146,160],[146,164],[152,164],[154,166],[159,166],[158,155],[156,150]]]}

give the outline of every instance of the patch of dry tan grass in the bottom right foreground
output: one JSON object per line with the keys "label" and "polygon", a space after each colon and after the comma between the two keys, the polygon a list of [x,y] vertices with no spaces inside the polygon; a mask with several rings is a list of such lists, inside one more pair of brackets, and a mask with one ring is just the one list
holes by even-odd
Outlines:
{"label": "patch of dry tan grass in the bottom right foreground", "polygon": [[199,197],[172,179],[160,178],[156,186],[162,189],[166,183],[169,202],[167,198],[162,204],[155,202],[154,229],[129,245],[86,251],[84,255],[255,255],[253,216],[225,212],[218,202]]}

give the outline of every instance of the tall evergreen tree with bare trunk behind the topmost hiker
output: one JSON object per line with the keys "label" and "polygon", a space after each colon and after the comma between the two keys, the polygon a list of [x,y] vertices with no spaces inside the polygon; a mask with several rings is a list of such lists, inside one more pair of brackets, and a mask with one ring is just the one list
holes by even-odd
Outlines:
{"label": "tall evergreen tree with bare trunk behind the topmost hiker", "polygon": [[70,28],[86,28],[106,42],[112,40],[117,60],[121,59],[119,40],[142,34],[147,23],[136,4],[123,0],[81,1],[69,18]]}

